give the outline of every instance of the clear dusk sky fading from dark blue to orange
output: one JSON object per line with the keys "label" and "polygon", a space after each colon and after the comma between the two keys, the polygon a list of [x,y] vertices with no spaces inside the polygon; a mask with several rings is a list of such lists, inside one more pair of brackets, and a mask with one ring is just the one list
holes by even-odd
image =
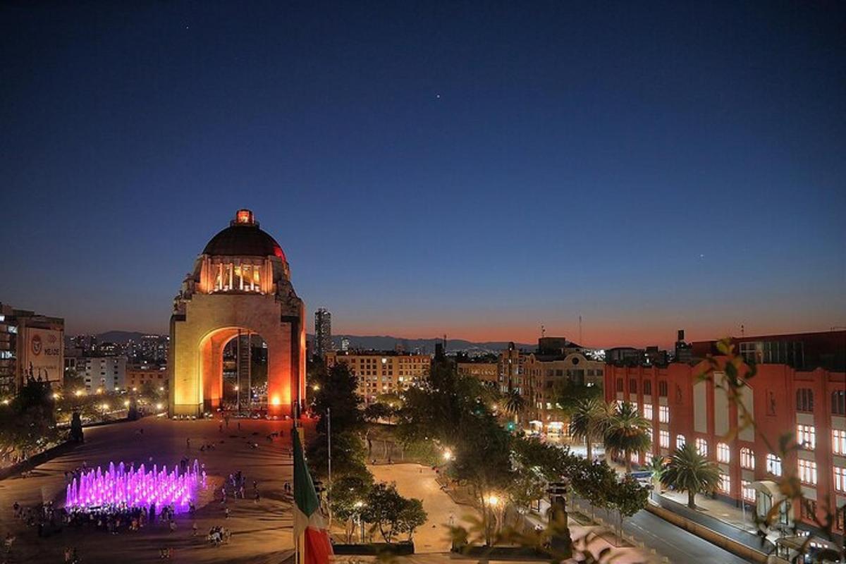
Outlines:
{"label": "clear dusk sky fading from dark blue to orange", "polygon": [[247,207],[336,334],[846,326],[843,29],[825,0],[3,3],[0,301],[166,332]]}

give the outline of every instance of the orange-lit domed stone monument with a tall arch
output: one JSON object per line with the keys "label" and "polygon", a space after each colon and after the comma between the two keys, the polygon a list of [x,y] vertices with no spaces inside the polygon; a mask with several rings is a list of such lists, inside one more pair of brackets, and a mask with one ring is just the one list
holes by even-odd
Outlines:
{"label": "orange-lit domed stone monument with a tall arch", "polygon": [[267,409],[295,413],[305,401],[305,305],[282,247],[239,210],[194,263],[170,318],[170,414],[221,406],[223,348],[239,333],[267,345]]}

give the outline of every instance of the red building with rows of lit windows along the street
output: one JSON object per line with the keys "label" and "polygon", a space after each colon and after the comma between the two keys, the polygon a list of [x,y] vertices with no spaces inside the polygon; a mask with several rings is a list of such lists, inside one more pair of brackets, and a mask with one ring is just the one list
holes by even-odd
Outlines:
{"label": "red building with rows of lit windows along the street", "polygon": [[[759,362],[757,374],[742,397],[744,406],[753,413],[757,432],[739,430],[738,407],[714,381],[700,381],[705,362],[667,367],[607,365],[607,401],[636,403],[640,413],[652,421],[652,450],[636,462],[667,457],[684,442],[693,442],[719,466],[719,494],[738,504],[743,498],[755,504],[759,514],[766,514],[779,499],[773,479],[796,474],[806,498],[812,501],[811,512],[823,517],[827,509],[838,507],[836,529],[843,534],[846,370],[838,359],[843,359],[846,331],[823,334],[829,343],[823,347],[817,346],[818,335],[750,337],[743,341],[753,343],[743,348],[744,356],[755,354]],[[695,350],[711,352],[700,343],[695,343]],[[773,360],[782,362],[772,364]],[[812,368],[811,364],[826,364],[827,368]],[[717,381],[721,377],[722,373],[715,374]],[[801,446],[782,460],[767,441],[777,449],[779,437],[785,434],[790,435],[792,444]],[[729,441],[727,437],[734,438]],[[782,517],[785,525],[794,519],[807,527],[812,523],[805,507],[791,507]]]}

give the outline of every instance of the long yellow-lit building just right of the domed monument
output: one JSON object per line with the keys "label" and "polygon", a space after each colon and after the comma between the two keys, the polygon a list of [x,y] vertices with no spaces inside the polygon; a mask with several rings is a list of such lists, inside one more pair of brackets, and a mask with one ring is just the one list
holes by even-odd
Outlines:
{"label": "long yellow-lit building just right of the domed monument", "polygon": [[427,354],[398,354],[395,352],[360,351],[330,352],[327,367],[346,364],[358,380],[356,392],[366,403],[376,401],[381,394],[401,393],[429,375],[431,357]]}

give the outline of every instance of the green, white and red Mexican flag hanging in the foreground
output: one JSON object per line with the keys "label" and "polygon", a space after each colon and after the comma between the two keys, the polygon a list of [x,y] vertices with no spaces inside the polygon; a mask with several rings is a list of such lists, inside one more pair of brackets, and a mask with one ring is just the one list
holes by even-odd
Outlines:
{"label": "green, white and red Mexican flag hanging in the foreground", "polygon": [[294,542],[299,542],[299,562],[302,564],[327,564],[332,554],[329,532],[320,512],[314,482],[305,465],[299,430],[294,429]]}

